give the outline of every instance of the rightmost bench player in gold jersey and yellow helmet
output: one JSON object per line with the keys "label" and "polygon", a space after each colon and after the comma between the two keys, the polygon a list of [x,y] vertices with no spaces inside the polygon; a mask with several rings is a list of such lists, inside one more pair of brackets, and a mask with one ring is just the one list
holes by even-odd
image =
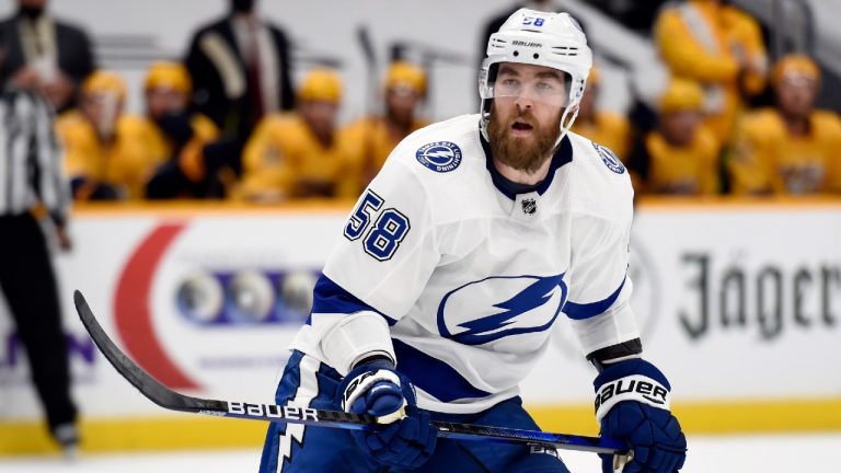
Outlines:
{"label": "rightmost bench player in gold jersey and yellow helmet", "polygon": [[841,120],[815,109],[818,66],[791,55],[774,66],[776,106],[741,120],[728,163],[736,194],[815,194],[841,191]]}

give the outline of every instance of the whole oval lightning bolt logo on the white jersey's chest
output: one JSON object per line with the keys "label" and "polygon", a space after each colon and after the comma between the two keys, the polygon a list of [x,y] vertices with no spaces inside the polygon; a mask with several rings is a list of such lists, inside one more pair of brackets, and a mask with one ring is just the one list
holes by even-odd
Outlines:
{"label": "whole oval lightning bolt logo on the white jersey's chest", "polygon": [[564,275],[494,276],[447,293],[438,305],[438,332],[465,345],[542,332],[566,301]]}

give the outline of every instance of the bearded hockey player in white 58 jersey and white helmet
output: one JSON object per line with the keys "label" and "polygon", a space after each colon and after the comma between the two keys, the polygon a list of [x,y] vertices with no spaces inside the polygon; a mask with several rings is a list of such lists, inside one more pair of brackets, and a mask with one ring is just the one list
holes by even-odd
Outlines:
{"label": "bearded hockey player in white 58 jersey and white helmet", "polygon": [[569,15],[519,10],[489,39],[480,115],[398,146],[344,227],[276,394],[380,425],[273,424],[262,472],[568,472],[554,451],[437,440],[430,425],[537,429],[517,385],[564,318],[600,371],[602,435],[633,449],[625,471],[682,466],[670,387],[641,358],[629,304],[627,172],[568,132],[590,65]]}

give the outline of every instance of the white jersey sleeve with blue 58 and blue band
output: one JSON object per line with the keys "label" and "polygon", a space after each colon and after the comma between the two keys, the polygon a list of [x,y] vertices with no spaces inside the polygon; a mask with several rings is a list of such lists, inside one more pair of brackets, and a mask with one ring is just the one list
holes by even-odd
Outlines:
{"label": "white jersey sleeve with blue 58 and blue band", "polygon": [[388,327],[408,312],[440,258],[423,183],[400,152],[357,200],[292,344],[342,373],[371,354],[395,358]]}

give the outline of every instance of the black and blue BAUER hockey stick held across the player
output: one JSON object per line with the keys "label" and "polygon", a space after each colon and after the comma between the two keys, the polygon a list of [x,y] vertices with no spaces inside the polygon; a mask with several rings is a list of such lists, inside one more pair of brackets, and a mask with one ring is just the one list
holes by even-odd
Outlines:
{"label": "black and blue BAUER hockey stick held across the player", "polygon": [[[310,407],[279,406],[246,402],[215,401],[192,397],[177,393],[152,378],[124,354],[102,328],[80,291],[73,292],[73,302],[82,324],[105,358],[142,395],[170,411],[205,414],[217,417],[235,417],[252,420],[268,420],[288,424],[303,424],[323,427],[362,430],[372,428],[372,416],[324,411]],[[581,450],[597,453],[624,453],[627,446],[619,440],[599,437],[584,437],[567,434],[552,434],[539,430],[523,430],[506,427],[479,426],[433,422],[438,437],[459,440],[486,440],[505,443],[525,442],[551,446],[565,450]]]}

